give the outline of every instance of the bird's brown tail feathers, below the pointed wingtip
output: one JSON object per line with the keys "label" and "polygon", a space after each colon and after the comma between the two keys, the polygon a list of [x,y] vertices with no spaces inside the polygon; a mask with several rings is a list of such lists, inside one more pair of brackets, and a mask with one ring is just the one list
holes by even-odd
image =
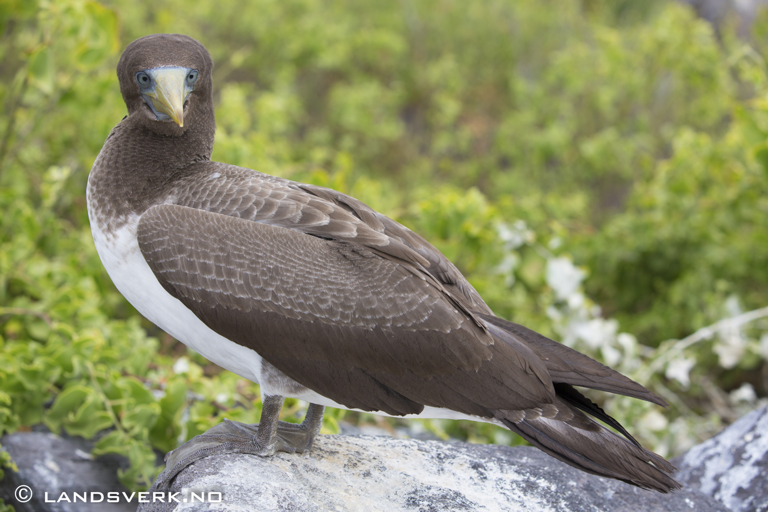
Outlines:
{"label": "bird's brown tail feathers, below the pointed wingtip", "polygon": [[675,467],[664,458],[614,434],[559,396],[544,408],[498,412],[511,431],[581,471],[661,493],[682,487],[669,476]]}

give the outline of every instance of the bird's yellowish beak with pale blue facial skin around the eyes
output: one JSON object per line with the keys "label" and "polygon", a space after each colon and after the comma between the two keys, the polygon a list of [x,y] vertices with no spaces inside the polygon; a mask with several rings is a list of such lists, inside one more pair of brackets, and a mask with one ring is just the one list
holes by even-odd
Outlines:
{"label": "bird's yellowish beak with pale blue facial skin around the eyes", "polygon": [[165,66],[139,71],[135,80],[156,121],[174,121],[184,126],[184,102],[194,90],[197,77],[196,69]]}

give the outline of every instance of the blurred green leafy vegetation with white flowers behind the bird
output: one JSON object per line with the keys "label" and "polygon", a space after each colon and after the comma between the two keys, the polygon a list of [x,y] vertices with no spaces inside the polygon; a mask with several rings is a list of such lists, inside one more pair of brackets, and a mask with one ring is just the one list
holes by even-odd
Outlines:
{"label": "blurred green leafy vegetation with white flowers behind the bird", "polygon": [[[142,489],[157,452],[258,420],[258,386],[142,319],[91,240],[88,171],[126,114],[114,68],[154,32],[214,56],[214,160],[410,226],[498,315],[666,398],[590,395],[649,448],[766,401],[768,12],[716,30],[661,0],[2,0],[4,432],[93,438]],[[339,421],[521,442],[346,411],[323,431]]]}

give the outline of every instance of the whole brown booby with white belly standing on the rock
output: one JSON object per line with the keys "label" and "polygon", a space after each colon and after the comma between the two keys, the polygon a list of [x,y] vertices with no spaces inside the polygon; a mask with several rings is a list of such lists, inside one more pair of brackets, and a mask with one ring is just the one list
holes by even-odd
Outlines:
{"label": "whole brown booby with white belly standing on the rock", "polygon": [[[128,115],[88,177],[94,242],[121,293],[263,395],[259,425],[198,436],[173,452],[166,480],[208,454],[305,451],[332,406],[488,421],[589,473],[680,487],[671,464],[573,386],[666,406],[657,395],[498,319],[439,250],[359,200],[210,161],[212,70],[185,35],[128,45]],[[310,402],[301,424],[278,421],[285,397]]]}

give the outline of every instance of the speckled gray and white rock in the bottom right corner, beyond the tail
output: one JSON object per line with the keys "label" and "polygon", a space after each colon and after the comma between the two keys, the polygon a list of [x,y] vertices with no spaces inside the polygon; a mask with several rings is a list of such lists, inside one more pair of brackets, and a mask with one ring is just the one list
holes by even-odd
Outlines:
{"label": "speckled gray and white rock in the bottom right corner, beyond the tail", "polygon": [[677,479],[733,512],[768,510],[768,406],[743,415],[676,461]]}

